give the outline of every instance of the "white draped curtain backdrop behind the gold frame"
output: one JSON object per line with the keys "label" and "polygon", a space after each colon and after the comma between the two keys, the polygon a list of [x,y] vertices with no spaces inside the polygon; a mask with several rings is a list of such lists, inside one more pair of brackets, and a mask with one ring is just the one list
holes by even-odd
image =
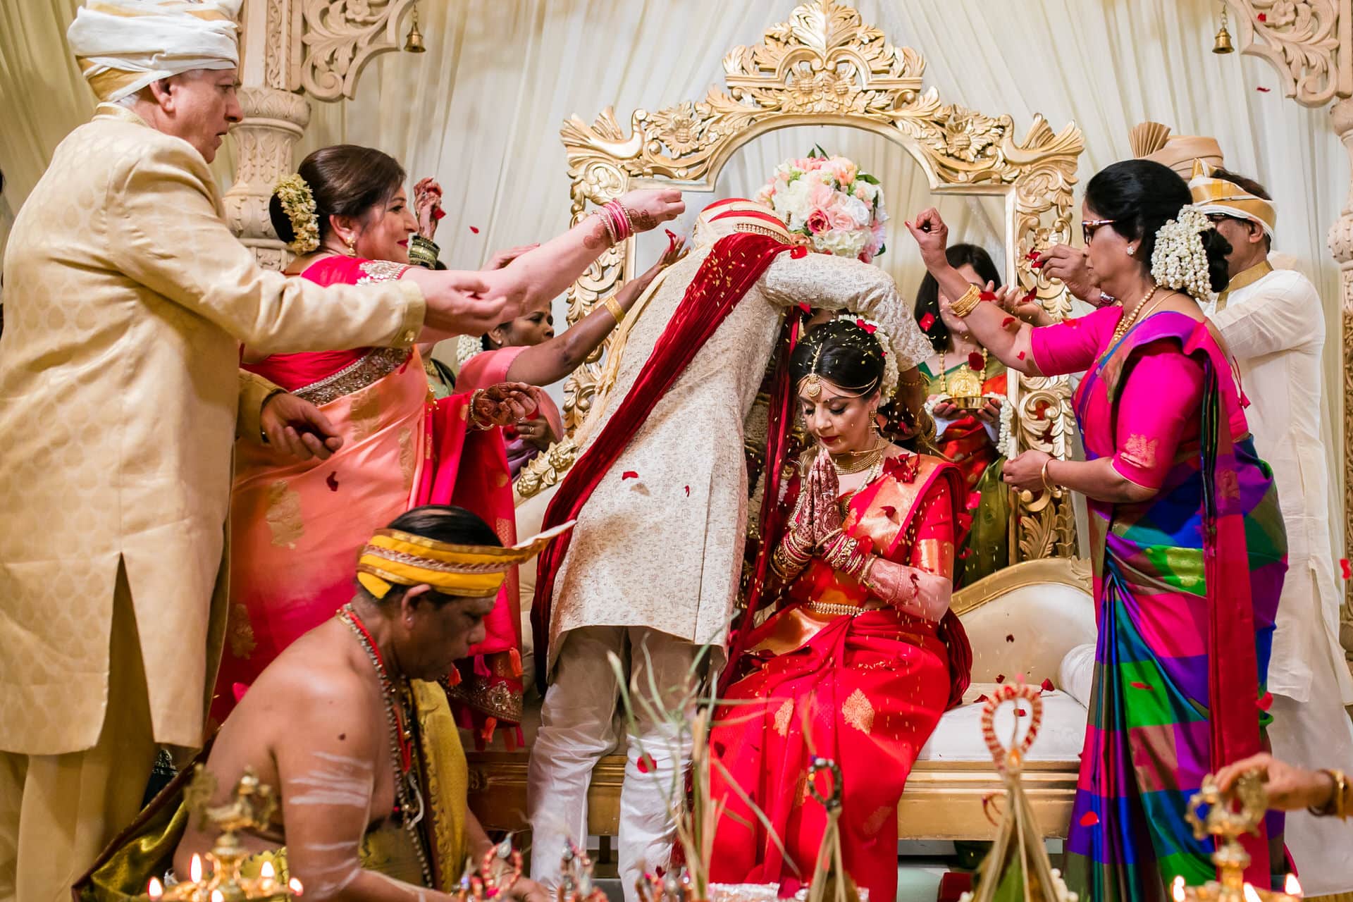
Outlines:
{"label": "white draped curtain backdrop behind the gold frame", "polygon": [[[0,169],[8,180],[0,241],[51,149],[92,107],[62,43],[76,5],[76,0],[0,4]],[[497,247],[538,241],[567,226],[568,180],[559,141],[567,116],[590,122],[612,104],[628,122],[639,107],[702,97],[708,85],[723,81],[724,53],[758,42],[793,5],[794,0],[422,0],[429,53],[380,57],[364,73],[353,101],[314,104],[299,154],[344,141],[375,145],[396,156],[411,177],[437,176],[448,212],[437,235],[444,260],[474,268]],[[1055,130],[1076,122],[1085,133],[1082,181],[1130,154],[1128,128],[1143,119],[1166,123],[1176,134],[1216,137],[1227,165],[1257,176],[1277,199],[1276,250],[1295,257],[1321,288],[1330,337],[1326,425],[1338,422],[1338,283],[1325,234],[1344,204],[1348,157],[1325,111],[1298,107],[1277,89],[1258,91],[1277,85],[1266,64],[1210,53],[1218,3],[858,0],[856,5],[894,43],[925,55],[925,82],[943,99],[990,115],[1011,114],[1019,134],[1035,114]],[[785,131],[763,138],[756,156],[775,160],[806,150],[801,133]],[[218,162],[226,183],[229,157]],[[915,212],[900,200],[901,185],[888,184],[888,165],[859,162],[885,177],[894,215]],[[894,247],[898,257],[890,269],[900,265],[904,250]],[[900,275],[904,292],[912,291],[908,273]],[[1334,430],[1327,442],[1331,464],[1341,460],[1337,437]],[[1331,471],[1337,476],[1342,467]],[[1339,488],[1331,488],[1337,500]],[[1342,530],[1334,533],[1341,542]]]}

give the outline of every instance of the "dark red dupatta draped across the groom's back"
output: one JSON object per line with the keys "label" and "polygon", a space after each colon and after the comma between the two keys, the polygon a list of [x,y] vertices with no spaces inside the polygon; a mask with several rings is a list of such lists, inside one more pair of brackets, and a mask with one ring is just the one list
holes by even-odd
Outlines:
{"label": "dark red dupatta draped across the groom's back", "polygon": [[[805,247],[786,245],[769,235],[755,233],[733,233],[714,242],[633,387],[606,426],[598,433],[597,440],[570,468],[564,481],[560,483],[559,491],[545,510],[543,530],[578,517],[593,490],[610,471],[648,414],[667,394],[667,389],[685,372],[695,353],[704,348],[709,337],[756,284],[775,257],[786,250],[793,252],[797,257],[808,254]],[[782,354],[779,366],[783,368],[783,376],[777,379],[777,385],[781,383],[787,385],[787,356]],[[774,450],[777,454],[782,454],[785,430],[790,418],[783,415],[785,410],[781,410],[789,404],[787,392],[781,391],[778,395],[785,396],[777,396],[773,400],[771,423],[775,423],[777,429],[773,431],[771,444],[778,444]],[[775,415],[777,410],[781,412],[779,417]],[[767,449],[767,461],[770,460],[773,460],[771,449]],[[763,517],[766,507],[774,507],[774,499],[778,496],[779,471],[779,467],[767,467],[767,502],[762,506]],[[555,594],[555,577],[568,553],[571,537],[572,533],[566,533],[553,540],[540,553],[537,563],[536,598],[532,604],[530,625],[536,634],[537,646],[541,649],[540,660],[548,660],[549,613]],[[764,581],[764,571],[766,561],[762,560],[758,564],[760,576],[756,584]],[[536,682],[544,692],[545,668],[536,669]]]}

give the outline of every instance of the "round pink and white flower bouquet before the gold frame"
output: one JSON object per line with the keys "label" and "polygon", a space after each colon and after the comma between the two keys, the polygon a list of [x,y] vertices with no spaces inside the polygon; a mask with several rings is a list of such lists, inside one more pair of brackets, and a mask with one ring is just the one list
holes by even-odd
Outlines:
{"label": "round pink and white flower bouquet before the gold frame", "polygon": [[846,157],[815,147],[802,160],[775,166],[756,192],[790,231],[808,237],[813,250],[873,262],[884,253],[888,211],[878,179]]}

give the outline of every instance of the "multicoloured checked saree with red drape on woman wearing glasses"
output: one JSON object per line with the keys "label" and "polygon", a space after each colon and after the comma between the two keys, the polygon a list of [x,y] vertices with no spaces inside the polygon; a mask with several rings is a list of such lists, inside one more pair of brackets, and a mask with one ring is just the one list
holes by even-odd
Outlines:
{"label": "multicoloured checked saree with red drape on woman wearing glasses", "polygon": [[[1212,842],[1193,837],[1184,813],[1206,774],[1265,746],[1264,675],[1285,569],[1272,472],[1247,437],[1233,440],[1237,402],[1222,384],[1231,371],[1206,323],[1158,314],[1107,349],[1077,392],[1086,458],[1115,453],[1132,354],[1161,339],[1203,365],[1200,440],[1180,444],[1154,498],[1091,500],[1099,637],[1068,883],[1105,902],[1164,899],[1176,876],[1215,876]],[[1246,840],[1247,880],[1280,886],[1281,836],[1270,814]]]}

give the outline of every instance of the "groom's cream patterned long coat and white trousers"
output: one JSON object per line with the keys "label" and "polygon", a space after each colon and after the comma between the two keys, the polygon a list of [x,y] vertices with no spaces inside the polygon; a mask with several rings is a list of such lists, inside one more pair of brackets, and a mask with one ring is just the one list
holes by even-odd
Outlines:
{"label": "groom's cream patterned long coat and white trousers", "polygon": [[[602,426],[635,384],[706,254],[676,264],[632,326]],[[723,663],[747,523],[743,423],[774,352],[781,314],[798,303],[848,308],[878,322],[894,337],[901,369],[931,353],[911,306],[882,269],[824,254],[781,254],[658,402],[578,515],[555,583],[548,661],[537,646],[537,665],[557,679],[545,695],[530,759],[533,841],[544,851],[533,856],[536,879],[557,879],[553,849],[566,832],[583,832],[591,769],[612,744],[609,732],[593,733],[613,717],[614,680],[605,665],[578,659],[603,659],[609,649],[637,661],[645,642],[659,672],[664,664],[683,672],[675,664],[693,660],[698,645],[713,646],[713,664]],[[626,472],[636,476],[625,479]],[[572,640],[578,630],[586,630],[586,641]],[[671,688],[659,683],[663,692]],[[579,730],[580,723],[593,730]],[[643,722],[628,745],[620,875],[632,899],[635,879],[671,852],[672,824],[652,813],[668,810],[664,791],[689,749],[663,755],[670,737]],[[641,748],[658,765],[648,774],[637,769]]]}

